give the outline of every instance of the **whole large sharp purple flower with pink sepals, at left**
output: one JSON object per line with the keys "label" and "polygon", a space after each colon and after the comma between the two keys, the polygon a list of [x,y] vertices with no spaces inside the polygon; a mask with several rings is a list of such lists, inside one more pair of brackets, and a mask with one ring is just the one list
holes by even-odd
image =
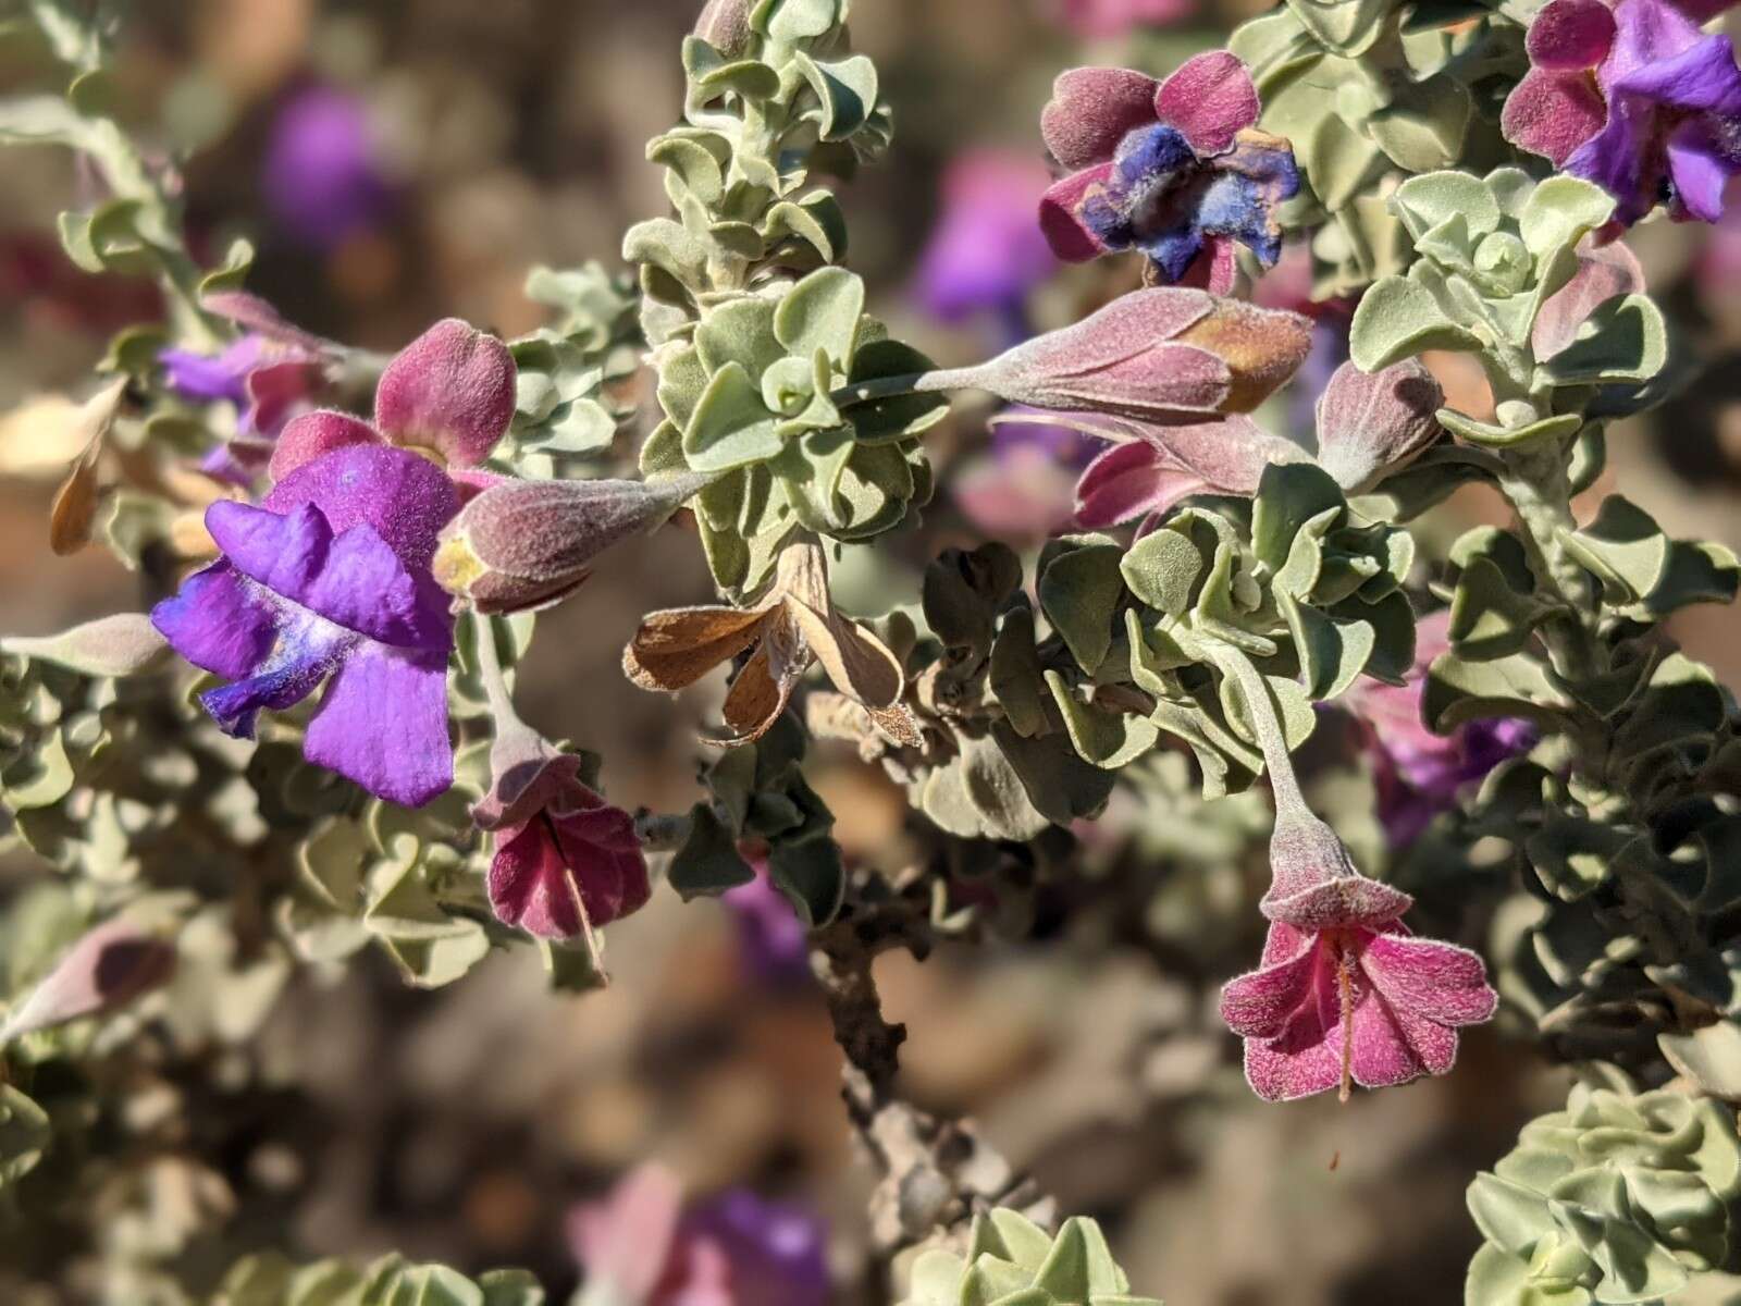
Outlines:
{"label": "whole large sharp purple flower with pink sepals, at left", "polygon": [[223,557],[151,622],[188,662],[233,681],[200,697],[226,733],[252,738],[263,707],[326,684],[303,738],[310,761],[406,806],[447,789],[453,616],[432,561],[460,508],[456,481],[477,479],[465,468],[512,414],[507,347],[437,322],[383,373],[380,428],[305,414],[272,449],[277,484],[259,507],[205,510]]}

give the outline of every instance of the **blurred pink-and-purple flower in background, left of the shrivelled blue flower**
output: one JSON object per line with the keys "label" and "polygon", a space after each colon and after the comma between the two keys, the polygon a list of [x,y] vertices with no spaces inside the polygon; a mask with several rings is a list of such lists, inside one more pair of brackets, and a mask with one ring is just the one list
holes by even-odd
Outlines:
{"label": "blurred pink-and-purple flower in background, left of the shrivelled blue flower", "polygon": [[944,174],[944,205],[919,258],[918,296],[944,322],[996,313],[1008,338],[1027,329],[1027,293],[1057,268],[1034,207],[1046,193],[1045,164],[982,150]]}

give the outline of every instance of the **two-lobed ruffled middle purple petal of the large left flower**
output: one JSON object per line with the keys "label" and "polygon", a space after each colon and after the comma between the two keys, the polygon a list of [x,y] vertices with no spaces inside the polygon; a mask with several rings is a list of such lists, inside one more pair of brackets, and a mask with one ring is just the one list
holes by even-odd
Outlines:
{"label": "two-lobed ruffled middle purple petal of the large left flower", "polygon": [[434,578],[407,571],[367,522],[334,536],[312,503],[279,515],[219,500],[205,510],[205,528],[244,576],[346,630],[442,653],[453,643]]}

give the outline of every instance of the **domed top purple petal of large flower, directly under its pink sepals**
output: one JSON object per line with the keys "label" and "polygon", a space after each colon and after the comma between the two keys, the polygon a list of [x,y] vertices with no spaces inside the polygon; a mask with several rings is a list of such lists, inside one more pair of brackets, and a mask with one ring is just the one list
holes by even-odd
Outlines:
{"label": "domed top purple petal of large flower, directly under its pink sepals", "polygon": [[359,444],[298,468],[266,495],[261,507],[291,512],[313,503],[334,535],[373,526],[406,568],[423,571],[458,500],[442,470],[404,449]]}

